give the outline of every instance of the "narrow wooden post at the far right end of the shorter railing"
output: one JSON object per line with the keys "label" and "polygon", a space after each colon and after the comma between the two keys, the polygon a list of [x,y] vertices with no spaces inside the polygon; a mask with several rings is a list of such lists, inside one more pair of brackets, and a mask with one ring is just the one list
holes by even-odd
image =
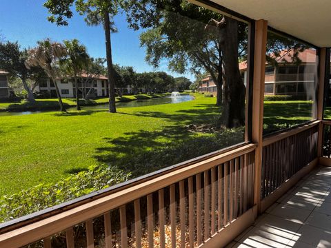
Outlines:
{"label": "narrow wooden post at the far right end of the shorter railing", "polygon": [[[319,87],[317,94],[317,111],[315,111],[315,118],[317,120],[323,120],[323,101],[324,101],[324,86],[325,86],[325,68],[326,63],[329,59],[326,58],[326,48],[321,48],[319,53]],[[316,109],[315,109],[316,110]],[[323,145],[323,123],[319,123],[319,139],[317,142],[317,156],[322,156],[322,145]]]}

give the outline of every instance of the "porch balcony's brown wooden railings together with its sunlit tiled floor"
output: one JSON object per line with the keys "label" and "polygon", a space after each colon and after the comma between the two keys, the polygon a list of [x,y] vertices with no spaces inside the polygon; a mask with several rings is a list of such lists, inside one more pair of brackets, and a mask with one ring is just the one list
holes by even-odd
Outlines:
{"label": "porch balcony's brown wooden railings together with its sunlit tiled floor", "polygon": [[265,138],[261,180],[258,145],[242,145],[3,224],[1,247],[316,247],[330,231],[328,124]]}

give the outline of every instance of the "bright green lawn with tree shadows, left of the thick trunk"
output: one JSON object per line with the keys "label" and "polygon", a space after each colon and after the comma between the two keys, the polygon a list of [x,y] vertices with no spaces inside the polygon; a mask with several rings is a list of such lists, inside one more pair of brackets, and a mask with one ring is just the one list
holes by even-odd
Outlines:
{"label": "bright green lawn with tree shadows, left of the thick trunk", "polygon": [[217,114],[213,100],[122,108],[117,114],[85,110],[3,116],[0,194],[55,182],[91,165],[128,161],[133,154],[199,136],[180,134],[178,127],[212,118]]}

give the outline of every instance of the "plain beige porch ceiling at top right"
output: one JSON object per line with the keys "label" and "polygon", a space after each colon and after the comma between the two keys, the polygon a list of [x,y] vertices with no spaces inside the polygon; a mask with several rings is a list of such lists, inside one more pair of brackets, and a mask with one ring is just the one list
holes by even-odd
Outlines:
{"label": "plain beige porch ceiling at top right", "polygon": [[265,19],[270,27],[308,41],[331,47],[331,1],[328,0],[212,0],[250,19]]}

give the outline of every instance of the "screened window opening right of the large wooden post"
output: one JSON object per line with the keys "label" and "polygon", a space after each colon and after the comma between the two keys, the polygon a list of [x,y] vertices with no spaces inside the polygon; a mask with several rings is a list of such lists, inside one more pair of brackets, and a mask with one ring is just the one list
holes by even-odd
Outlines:
{"label": "screened window opening right of the large wooden post", "polygon": [[[268,31],[268,43],[279,44],[267,47],[266,56],[276,64],[275,93],[283,97],[264,103],[263,134],[312,121],[317,106],[317,50],[271,31]],[[265,85],[265,92],[271,91],[268,87]]]}

